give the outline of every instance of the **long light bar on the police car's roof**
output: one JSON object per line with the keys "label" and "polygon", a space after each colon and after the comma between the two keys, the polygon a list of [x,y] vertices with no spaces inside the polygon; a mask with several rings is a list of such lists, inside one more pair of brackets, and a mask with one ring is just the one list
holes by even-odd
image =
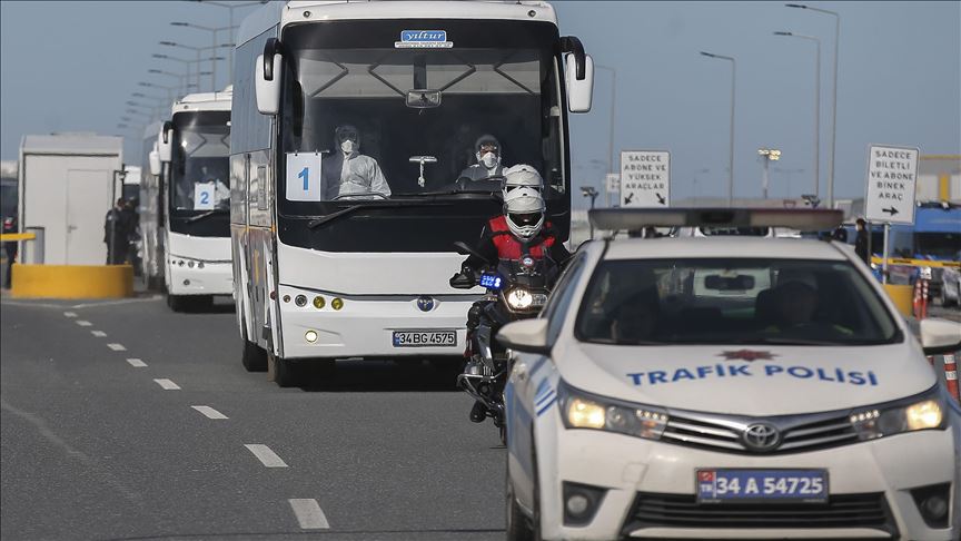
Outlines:
{"label": "long light bar on the police car's roof", "polygon": [[803,232],[833,229],[842,210],[782,208],[597,208],[588,213],[597,229],[644,227],[790,227]]}

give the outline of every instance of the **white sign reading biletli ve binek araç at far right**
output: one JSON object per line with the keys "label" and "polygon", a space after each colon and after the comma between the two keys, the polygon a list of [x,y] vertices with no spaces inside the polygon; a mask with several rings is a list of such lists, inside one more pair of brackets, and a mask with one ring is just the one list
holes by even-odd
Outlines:
{"label": "white sign reading biletli ve binek ara\u00e7 at far right", "polygon": [[914,223],[917,148],[872,145],[868,158],[865,218],[888,224]]}

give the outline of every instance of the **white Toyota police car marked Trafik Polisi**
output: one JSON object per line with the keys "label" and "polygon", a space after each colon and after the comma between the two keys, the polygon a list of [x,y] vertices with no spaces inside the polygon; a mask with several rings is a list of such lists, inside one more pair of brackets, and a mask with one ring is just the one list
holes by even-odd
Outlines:
{"label": "white Toyota police car marked Trafik Polisi", "polygon": [[[831,229],[835,210],[605,209],[595,228]],[[508,539],[959,539],[961,409],[870,269],[816,239],[585,244],[498,334]],[[923,344],[923,345],[922,345]]]}

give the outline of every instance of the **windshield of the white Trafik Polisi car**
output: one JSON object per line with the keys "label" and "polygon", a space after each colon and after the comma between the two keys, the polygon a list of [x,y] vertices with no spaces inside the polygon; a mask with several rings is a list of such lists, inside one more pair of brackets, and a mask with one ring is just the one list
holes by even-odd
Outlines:
{"label": "windshield of the white Trafik Polisi car", "polygon": [[606,344],[865,345],[901,340],[846,262],[627,259],[602,263],[578,340]]}

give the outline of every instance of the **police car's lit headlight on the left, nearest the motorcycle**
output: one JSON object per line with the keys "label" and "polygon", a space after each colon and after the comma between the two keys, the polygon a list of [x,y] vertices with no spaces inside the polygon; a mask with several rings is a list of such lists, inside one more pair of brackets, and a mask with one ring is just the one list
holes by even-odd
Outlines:
{"label": "police car's lit headlight on the left, nearest the motorcycle", "polygon": [[647,440],[660,440],[667,425],[667,412],[658,407],[613,401],[573,390],[558,388],[561,412],[567,429],[591,429]]}

